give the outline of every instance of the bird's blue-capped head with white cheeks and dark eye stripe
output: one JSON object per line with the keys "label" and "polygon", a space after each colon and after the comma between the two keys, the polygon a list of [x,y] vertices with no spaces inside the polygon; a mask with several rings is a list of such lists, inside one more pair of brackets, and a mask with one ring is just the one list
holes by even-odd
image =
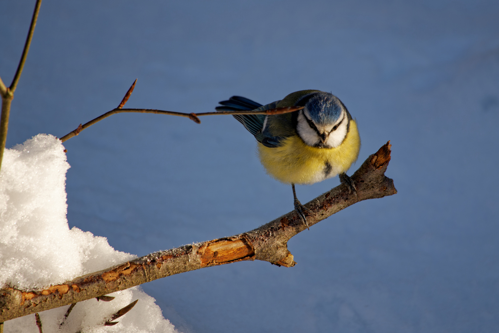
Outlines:
{"label": "bird's blue-capped head with white cheeks and dark eye stripe", "polygon": [[307,145],[319,148],[338,147],[348,132],[351,119],[343,103],[328,92],[312,92],[297,105],[296,132]]}

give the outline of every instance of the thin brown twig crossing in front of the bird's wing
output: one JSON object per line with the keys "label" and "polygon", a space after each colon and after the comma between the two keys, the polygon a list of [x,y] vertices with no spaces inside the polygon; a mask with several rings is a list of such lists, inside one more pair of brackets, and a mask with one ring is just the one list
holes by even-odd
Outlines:
{"label": "thin brown twig crossing in front of the bird's wing", "polygon": [[270,109],[270,110],[264,110],[264,111],[216,111],[216,112],[203,112],[203,113],[184,113],[184,112],[174,112],[174,111],[163,111],[163,110],[155,110],[155,109],[114,109],[111,111],[108,111],[104,113],[101,116],[98,116],[95,119],[90,120],[84,125],[78,126],[78,128],[72,132],[69,132],[68,134],[64,135],[63,137],[60,138],[62,142],[72,138],[73,136],[78,135],[82,130],[85,128],[88,128],[95,124],[98,121],[101,121],[102,119],[105,119],[113,114],[116,113],[123,113],[123,112],[137,112],[137,113],[156,113],[156,114],[167,114],[171,116],[180,116],[180,117],[186,117],[191,120],[194,120],[198,124],[201,123],[201,120],[198,119],[199,116],[211,116],[211,115],[227,115],[227,114],[265,114],[265,115],[270,115],[270,114],[282,114],[282,113],[288,113],[288,112],[293,112],[302,109],[303,106],[290,106],[290,107],[278,107],[275,109]]}

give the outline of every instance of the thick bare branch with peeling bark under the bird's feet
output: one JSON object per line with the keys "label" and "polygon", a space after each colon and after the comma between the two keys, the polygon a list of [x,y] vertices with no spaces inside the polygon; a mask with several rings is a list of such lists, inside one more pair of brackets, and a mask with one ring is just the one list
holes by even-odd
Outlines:
{"label": "thick bare branch with peeling bark under the bird's feet", "polygon": [[[307,203],[305,206],[312,212],[307,217],[308,225],[356,202],[396,194],[393,180],[385,176],[390,146],[387,142],[352,175],[357,195],[339,185]],[[0,322],[204,267],[255,259],[291,267],[296,263],[287,250],[287,241],[304,229],[306,226],[292,211],[246,233],[152,253],[44,290],[5,288],[0,290]]]}

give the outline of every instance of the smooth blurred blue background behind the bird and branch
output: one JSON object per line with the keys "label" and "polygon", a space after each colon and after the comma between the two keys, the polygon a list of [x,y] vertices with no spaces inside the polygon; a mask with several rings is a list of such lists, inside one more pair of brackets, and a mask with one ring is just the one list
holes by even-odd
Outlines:
{"label": "smooth blurred blue background behind the bird and branch", "polygon": [[[34,1],[3,1],[13,77]],[[398,194],[240,262],[143,285],[184,332],[497,332],[497,1],[44,0],[7,147],[116,107],[211,111],[301,89],[356,117],[359,161],[391,140]],[[231,116],[119,114],[67,141],[68,221],[139,256],[251,230],[292,207]],[[298,186],[304,203],[338,179]]]}

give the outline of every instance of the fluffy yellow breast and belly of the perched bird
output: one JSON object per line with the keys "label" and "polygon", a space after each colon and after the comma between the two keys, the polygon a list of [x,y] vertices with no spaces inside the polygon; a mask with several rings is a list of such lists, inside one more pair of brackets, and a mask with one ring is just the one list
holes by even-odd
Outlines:
{"label": "fluffy yellow breast and belly of the perched bird", "polygon": [[353,119],[345,140],[336,148],[310,147],[297,135],[275,148],[258,142],[258,157],[267,174],[285,184],[313,184],[346,172],[359,150],[360,136]]}

